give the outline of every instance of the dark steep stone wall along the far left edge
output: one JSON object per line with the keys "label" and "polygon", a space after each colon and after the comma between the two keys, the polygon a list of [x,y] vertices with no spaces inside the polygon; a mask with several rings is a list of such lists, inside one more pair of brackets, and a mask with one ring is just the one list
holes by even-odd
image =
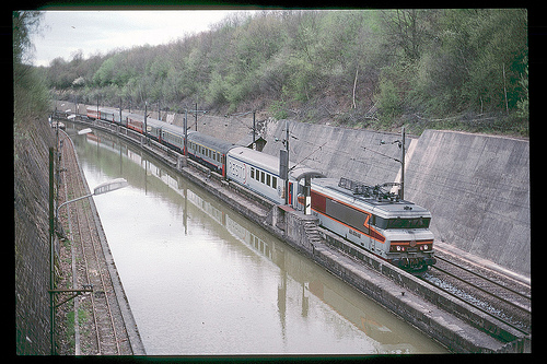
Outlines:
{"label": "dark steep stone wall along the far left edge", "polygon": [[49,146],[47,120],[14,127],[15,327],[18,354],[49,354]]}

